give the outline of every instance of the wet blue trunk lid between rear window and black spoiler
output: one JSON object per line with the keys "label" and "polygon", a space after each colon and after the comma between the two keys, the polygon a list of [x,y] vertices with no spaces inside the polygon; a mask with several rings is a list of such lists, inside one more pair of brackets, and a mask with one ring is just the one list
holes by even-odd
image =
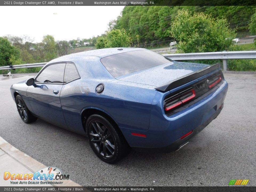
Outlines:
{"label": "wet blue trunk lid between rear window and black spoiler", "polygon": [[150,69],[122,75],[116,77],[116,79],[120,81],[159,86],[207,66],[209,65],[173,61],[171,64],[163,64]]}

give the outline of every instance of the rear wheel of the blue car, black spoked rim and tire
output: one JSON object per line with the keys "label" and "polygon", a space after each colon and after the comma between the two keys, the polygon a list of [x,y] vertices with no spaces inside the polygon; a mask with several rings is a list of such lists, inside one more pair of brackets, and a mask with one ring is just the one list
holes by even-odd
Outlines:
{"label": "rear wheel of the blue car, black spoked rim and tire", "polygon": [[130,146],[117,125],[102,115],[87,119],[86,134],[91,149],[102,161],[116,163],[129,154]]}

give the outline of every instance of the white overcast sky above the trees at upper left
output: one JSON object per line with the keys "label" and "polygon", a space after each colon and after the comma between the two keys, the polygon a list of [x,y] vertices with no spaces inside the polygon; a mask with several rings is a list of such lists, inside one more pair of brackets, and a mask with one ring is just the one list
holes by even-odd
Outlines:
{"label": "white overcast sky above the trees at upper left", "polygon": [[124,6],[2,6],[0,37],[28,35],[34,43],[44,35],[57,40],[101,35]]}

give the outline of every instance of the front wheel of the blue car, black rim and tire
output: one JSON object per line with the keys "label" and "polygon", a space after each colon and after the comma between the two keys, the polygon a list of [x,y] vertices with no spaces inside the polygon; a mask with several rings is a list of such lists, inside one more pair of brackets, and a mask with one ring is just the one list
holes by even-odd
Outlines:
{"label": "front wheel of the blue car, black rim and tire", "polygon": [[20,95],[16,96],[15,102],[17,110],[19,112],[19,116],[21,117],[22,121],[24,121],[25,123],[32,123],[37,120],[37,117],[32,115],[29,109],[27,109],[27,106]]}

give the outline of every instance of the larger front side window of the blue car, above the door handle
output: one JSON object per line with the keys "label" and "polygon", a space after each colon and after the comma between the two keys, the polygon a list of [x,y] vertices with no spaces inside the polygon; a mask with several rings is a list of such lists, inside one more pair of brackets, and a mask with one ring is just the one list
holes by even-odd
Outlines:
{"label": "larger front side window of the blue car, above the door handle", "polygon": [[63,83],[66,63],[58,63],[46,67],[35,79],[40,83]]}

